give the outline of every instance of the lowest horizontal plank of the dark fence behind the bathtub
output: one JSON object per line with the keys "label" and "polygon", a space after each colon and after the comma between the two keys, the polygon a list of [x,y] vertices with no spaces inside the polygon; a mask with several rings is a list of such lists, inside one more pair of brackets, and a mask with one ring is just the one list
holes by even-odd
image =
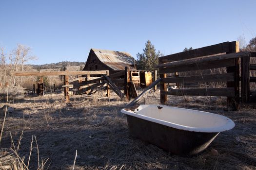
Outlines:
{"label": "lowest horizontal plank of the dark fence behind the bathtub", "polygon": [[161,91],[163,95],[176,96],[235,96],[234,88],[184,88]]}

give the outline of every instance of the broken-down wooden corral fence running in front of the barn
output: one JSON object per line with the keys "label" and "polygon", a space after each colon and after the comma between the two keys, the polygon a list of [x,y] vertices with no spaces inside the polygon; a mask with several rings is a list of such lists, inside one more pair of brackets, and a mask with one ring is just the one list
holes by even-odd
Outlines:
{"label": "broken-down wooden corral fence running in front of the barn", "polygon": [[[157,71],[155,71],[155,76]],[[70,75],[78,75],[78,78],[69,79]],[[152,71],[144,70],[130,70],[126,67],[125,70],[109,75],[109,70],[95,70],[95,71],[47,71],[47,72],[11,72],[11,76],[64,76],[64,96],[66,102],[70,102],[70,96],[73,91],[70,88],[78,88],[80,94],[92,94],[97,89],[104,86],[107,91],[106,96],[110,96],[110,89],[112,89],[123,100],[127,98],[136,98],[138,96],[138,86],[147,87],[152,83]],[[78,82],[78,84],[74,83]],[[71,84],[72,83],[72,84]],[[74,84],[74,85],[73,85]],[[55,89],[55,85],[54,85]],[[122,93],[120,90],[124,90]],[[34,93],[37,91],[38,95],[44,94],[44,83],[41,77],[38,82],[38,88],[33,85],[31,89]]]}

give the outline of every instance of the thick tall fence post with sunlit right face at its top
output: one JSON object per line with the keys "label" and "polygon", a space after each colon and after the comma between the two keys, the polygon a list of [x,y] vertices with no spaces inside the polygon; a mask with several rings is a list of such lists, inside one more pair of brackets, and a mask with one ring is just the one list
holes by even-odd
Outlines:
{"label": "thick tall fence post with sunlit right face at its top", "polygon": [[[229,52],[235,53],[239,52],[239,42],[234,41],[229,44]],[[232,108],[233,110],[238,110],[240,107],[240,97],[239,97],[239,58],[234,58],[235,66],[227,67],[227,73],[234,72],[234,82],[227,82],[227,87],[234,87],[235,96],[227,97],[227,107]]]}

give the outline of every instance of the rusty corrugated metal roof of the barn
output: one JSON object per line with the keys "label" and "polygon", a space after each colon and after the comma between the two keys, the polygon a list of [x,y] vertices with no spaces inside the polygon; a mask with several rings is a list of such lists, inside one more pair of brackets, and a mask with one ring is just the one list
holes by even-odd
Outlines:
{"label": "rusty corrugated metal roof of the barn", "polygon": [[[92,49],[98,59],[114,70],[124,70],[126,66],[134,65],[134,58],[128,52]],[[131,70],[135,68],[130,68]]]}

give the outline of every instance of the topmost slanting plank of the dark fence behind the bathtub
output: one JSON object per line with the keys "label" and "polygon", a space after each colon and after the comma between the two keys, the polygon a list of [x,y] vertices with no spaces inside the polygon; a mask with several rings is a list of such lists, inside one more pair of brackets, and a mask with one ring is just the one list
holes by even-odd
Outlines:
{"label": "topmost slanting plank of the dark fence behind the bathtub", "polygon": [[167,63],[171,61],[190,59],[195,57],[213,55],[218,53],[224,53],[229,51],[229,42],[223,42],[212,46],[202,47],[190,51],[179,52],[171,55],[159,57],[159,64]]}

